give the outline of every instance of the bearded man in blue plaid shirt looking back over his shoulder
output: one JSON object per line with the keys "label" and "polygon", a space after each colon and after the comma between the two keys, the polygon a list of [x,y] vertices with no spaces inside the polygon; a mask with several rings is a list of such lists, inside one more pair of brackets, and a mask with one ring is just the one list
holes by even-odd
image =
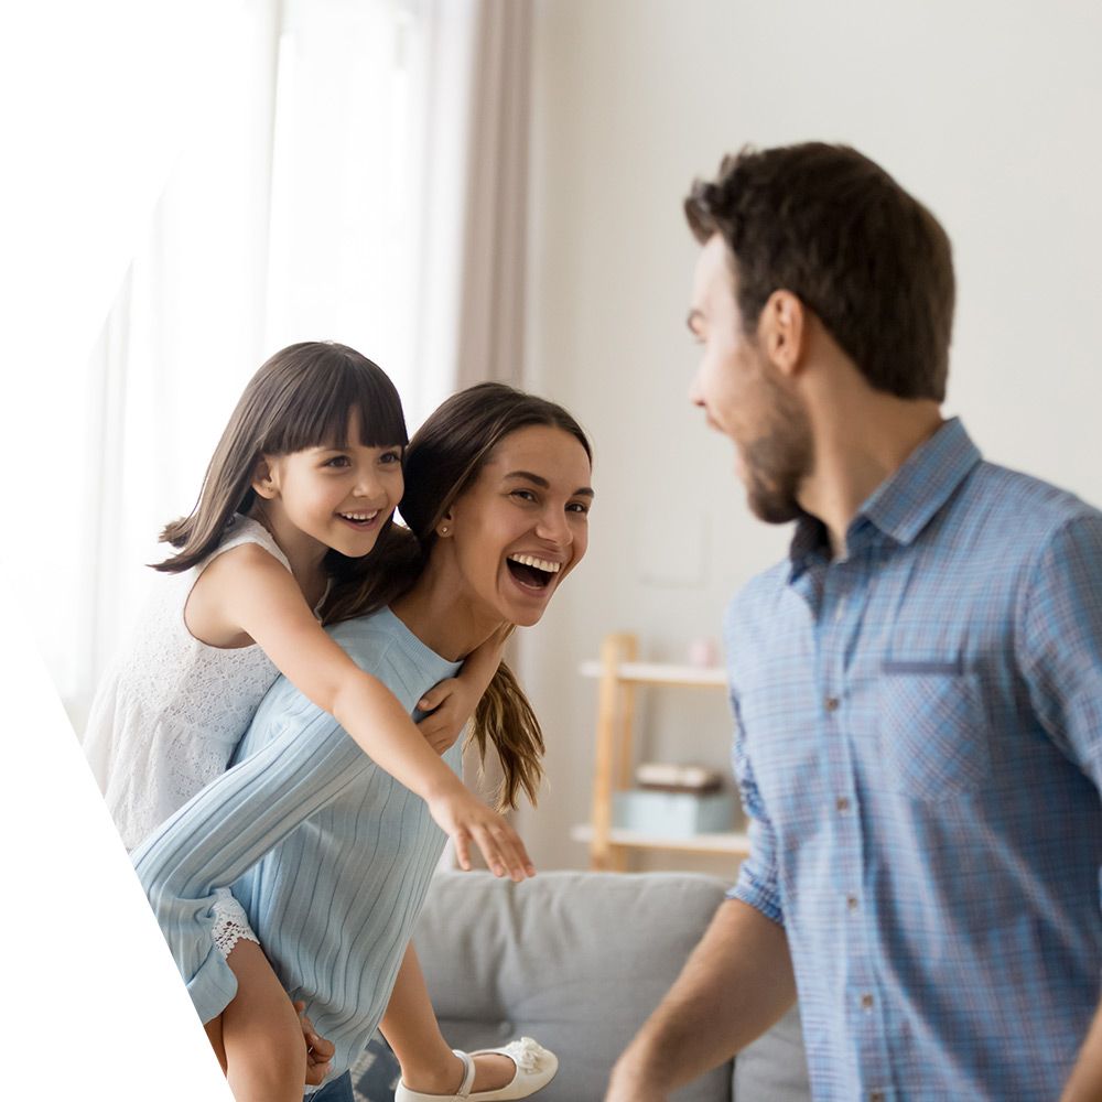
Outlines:
{"label": "bearded man in blue plaid shirt looking back over his shoulder", "polygon": [[752,853],[608,1102],[797,991],[817,1100],[1102,1098],[1102,515],[942,419],[950,246],[879,166],[745,150],[685,210],[692,401],[796,529],[726,623]]}

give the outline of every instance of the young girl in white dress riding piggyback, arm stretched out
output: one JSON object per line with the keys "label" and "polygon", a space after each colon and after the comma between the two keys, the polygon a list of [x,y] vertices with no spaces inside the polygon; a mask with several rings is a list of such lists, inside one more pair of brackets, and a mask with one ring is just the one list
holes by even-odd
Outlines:
{"label": "young girl in white dress riding piggyback, arm stretched out", "polygon": [[[402,496],[406,443],[393,385],[350,348],[293,345],[249,382],[194,511],[162,534],[176,549],[156,568],[169,576],[89,717],[85,752],[128,849],[227,768],[282,672],[424,799],[462,867],[474,841],[496,875],[534,872],[508,823],[437,754],[493,678],[500,639],[422,699],[423,711],[439,709],[422,733],[321,627],[366,579],[380,574],[385,592],[388,563],[371,551]],[[305,1027],[228,890],[214,912],[216,951],[238,992],[207,1031],[235,1098],[298,1102]],[[313,1068],[314,1081],[324,1070]]]}

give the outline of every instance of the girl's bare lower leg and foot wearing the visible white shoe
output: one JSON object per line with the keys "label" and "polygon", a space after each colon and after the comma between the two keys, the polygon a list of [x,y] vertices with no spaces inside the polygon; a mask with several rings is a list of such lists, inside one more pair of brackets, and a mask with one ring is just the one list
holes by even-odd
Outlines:
{"label": "girl's bare lower leg and foot wearing the visible white shoe", "polygon": [[[402,1066],[402,1082],[420,1094],[454,1094],[463,1082],[463,1061],[449,1048],[429,1001],[417,952],[410,944],[382,1015],[379,1030]],[[512,1081],[517,1067],[507,1056],[475,1059],[475,1091],[493,1091]]]}

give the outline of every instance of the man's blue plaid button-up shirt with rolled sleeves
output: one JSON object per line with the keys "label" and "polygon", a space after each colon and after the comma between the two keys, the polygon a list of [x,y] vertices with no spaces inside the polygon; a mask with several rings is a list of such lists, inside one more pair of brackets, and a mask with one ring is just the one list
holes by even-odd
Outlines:
{"label": "man's blue plaid button-up shirt with rolled sleeves", "polygon": [[1102,972],[1102,514],[949,421],[726,625],[814,1098],[1052,1102]]}

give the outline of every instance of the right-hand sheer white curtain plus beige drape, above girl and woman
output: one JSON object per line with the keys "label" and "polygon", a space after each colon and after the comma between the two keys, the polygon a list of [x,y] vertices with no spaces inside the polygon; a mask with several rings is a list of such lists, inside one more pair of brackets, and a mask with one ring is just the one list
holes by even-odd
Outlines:
{"label": "right-hand sheer white curtain plus beige drape, above girl and woman", "polygon": [[[530,28],[516,0],[288,7],[269,345],[336,326],[411,428],[521,377]],[[390,123],[370,140],[366,105]]]}

